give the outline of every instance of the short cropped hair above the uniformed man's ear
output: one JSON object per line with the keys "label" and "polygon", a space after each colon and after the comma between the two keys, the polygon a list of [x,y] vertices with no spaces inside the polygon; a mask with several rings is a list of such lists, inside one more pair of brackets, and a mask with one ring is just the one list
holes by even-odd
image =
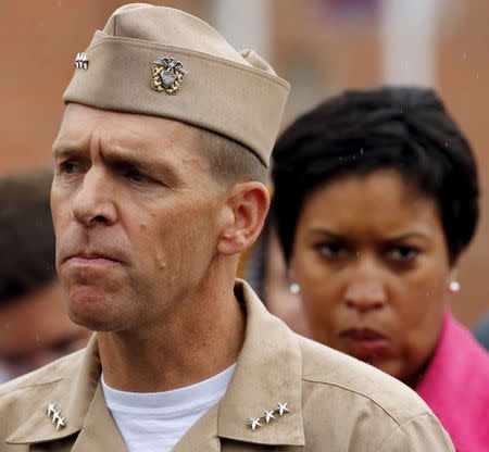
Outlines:
{"label": "short cropped hair above the uniformed man's ear", "polygon": [[230,138],[200,129],[198,146],[205,152],[212,176],[222,184],[241,181],[268,181],[268,171],[263,162],[247,147]]}

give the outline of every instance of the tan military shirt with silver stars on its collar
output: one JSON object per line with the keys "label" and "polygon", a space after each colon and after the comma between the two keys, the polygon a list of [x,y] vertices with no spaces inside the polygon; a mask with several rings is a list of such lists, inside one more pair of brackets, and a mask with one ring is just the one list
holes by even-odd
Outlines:
{"label": "tan military shirt with silver stars on its collar", "polygon": [[[235,374],[221,402],[175,452],[453,451],[429,409],[404,385],[297,336],[246,284],[238,281],[236,293],[247,310],[247,331]],[[52,411],[48,416],[50,403],[64,417],[59,429]],[[280,415],[279,403],[289,412]],[[259,417],[252,429],[250,418]],[[1,452],[125,450],[100,387],[97,336],[85,351],[1,386],[0,419]]]}

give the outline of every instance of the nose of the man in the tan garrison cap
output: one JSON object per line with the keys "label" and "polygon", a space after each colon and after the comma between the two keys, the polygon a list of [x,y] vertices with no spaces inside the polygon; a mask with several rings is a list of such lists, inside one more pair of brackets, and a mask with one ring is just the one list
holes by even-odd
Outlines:
{"label": "nose of the man in the tan garrison cap", "polygon": [[98,168],[90,168],[73,199],[73,217],[86,227],[113,225],[117,221],[117,209],[112,194],[106,175]]}

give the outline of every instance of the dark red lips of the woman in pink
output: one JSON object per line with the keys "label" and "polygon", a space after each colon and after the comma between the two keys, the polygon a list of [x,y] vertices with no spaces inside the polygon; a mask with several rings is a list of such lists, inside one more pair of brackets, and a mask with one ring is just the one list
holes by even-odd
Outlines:
{"label": "dark red lips of the woman in pink", "polygon": [[383,357],[389,348],[389,339],[369,328],[350,328],[339,335],[346,351],[362,361]]}

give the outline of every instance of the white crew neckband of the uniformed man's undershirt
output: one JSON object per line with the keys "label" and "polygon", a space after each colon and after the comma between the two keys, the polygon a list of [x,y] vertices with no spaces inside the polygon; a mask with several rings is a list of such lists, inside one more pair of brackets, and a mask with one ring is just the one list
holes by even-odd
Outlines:
{"label": "white crew neckband of the uniformed man's undershirt", "polygon": [[[184,388],[162,392],[120,391],[106,385],[103,373],[101,377],[103,395],[110,410],[117,412],[154,414],[167,413],[168,417],[180,412],[196,410],[216,403],[226,391],[236,364],[203,381]],[[150,411],[150,412],[149,412]]]}

